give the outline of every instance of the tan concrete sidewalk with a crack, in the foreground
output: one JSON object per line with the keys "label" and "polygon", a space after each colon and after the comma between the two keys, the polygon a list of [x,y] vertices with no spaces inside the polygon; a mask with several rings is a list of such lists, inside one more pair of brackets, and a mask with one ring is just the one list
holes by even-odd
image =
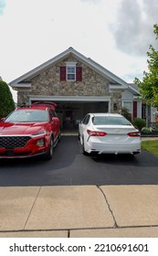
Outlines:
{"label": "tan concrete sidewalk with a crack, in the foreground", "polygon": [[158,186],[0,187],[0,237],[158,237]]}

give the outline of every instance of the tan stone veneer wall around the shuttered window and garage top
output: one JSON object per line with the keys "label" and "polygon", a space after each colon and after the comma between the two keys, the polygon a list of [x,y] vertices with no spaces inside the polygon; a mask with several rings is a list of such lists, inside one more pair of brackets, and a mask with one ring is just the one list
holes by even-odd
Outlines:
{"label": "tan stone veneer wall around the shuttered window and garage top", "polygon": [[[76,61],[82,67],[82,81],[60,81],[59,67],[66,66],[66,61]],[[41,72],[31,80],[31,91],[18,91],[19,104],[29,102],[31,96],[111,96],[111,112],[114,102],[121,106],[121,91],[111,93],[109,82],[95,70],[80,63],[77,59],[64,59],[58,64]]]}

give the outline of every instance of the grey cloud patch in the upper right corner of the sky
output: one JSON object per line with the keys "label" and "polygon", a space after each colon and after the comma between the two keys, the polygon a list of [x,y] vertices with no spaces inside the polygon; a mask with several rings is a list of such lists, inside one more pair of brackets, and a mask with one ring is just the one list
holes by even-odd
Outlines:
{"label": "grey cloud patch in the upper right corner of the sky", "polygon": [[158,1],[121,0],[110,25],[116,47],[126,54],[144,57],[154,46],[153,24],[157,23]]}

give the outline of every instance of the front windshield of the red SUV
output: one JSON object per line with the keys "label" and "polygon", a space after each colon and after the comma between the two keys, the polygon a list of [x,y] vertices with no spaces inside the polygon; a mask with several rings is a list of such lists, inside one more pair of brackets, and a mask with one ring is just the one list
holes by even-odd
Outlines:
{"label": "front windshield of the red SUV", "polygon": [[17,110],[12,112],[6,119],[5,123],[30,123],[30,122],[47,122],[48,115],[42,110]]}

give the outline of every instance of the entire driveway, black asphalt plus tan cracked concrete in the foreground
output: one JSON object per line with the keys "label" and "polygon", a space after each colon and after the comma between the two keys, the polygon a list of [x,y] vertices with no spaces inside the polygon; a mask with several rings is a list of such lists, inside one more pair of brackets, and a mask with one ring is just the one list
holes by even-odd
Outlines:
{"label": "entire driveway, black asphalt plus tan cracked concrete in the foreground", "polygon": [[157,238],[157,165],[147,152],[82,155],[77,136],[49,162],[1,160],[0,237]]}

